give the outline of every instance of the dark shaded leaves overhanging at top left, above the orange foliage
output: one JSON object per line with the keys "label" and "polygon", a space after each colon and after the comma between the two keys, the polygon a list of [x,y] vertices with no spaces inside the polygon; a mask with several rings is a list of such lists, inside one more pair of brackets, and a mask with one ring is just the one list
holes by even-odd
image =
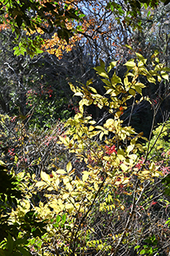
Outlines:
{"label": "dark shaded leaves overhanging at top left, above the orange foliage", "polygon": [[[65,6],[61,6],[58,4],[58,2],[25,2],[20,0],[18,5],[16,5],[16,3],[12,0],[10,1],[10,5],[8,5],[5,1],[3,1],[0,9],[6,10],[10,20],[10,26],[14,26],[17,34],[20,34],[20,29],[22,26],[29,32],[30,30],[36,30],[38,27],[45,31],[45,33],[52,33],[54,28],[57,27],[58,36],[65,38],[66,40],[68,40],[67,37],[70,31],[65,26],[65,20],[79,20],[82,18],[82,16],[84,16],[81,12],[73,9],[73,6],[68,8],[66,4]],[[78,29],[80,29],[80,27],[78,27]]]}

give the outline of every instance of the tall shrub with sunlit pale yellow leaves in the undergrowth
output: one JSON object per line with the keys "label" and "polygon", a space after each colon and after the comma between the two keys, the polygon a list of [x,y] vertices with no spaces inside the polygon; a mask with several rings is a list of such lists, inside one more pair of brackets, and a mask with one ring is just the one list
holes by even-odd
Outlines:
{"label": "tall shrub with sunlit pale yellow leaves in the undergrowth", "polygon": [[[121,242],[126,241],[125,232],[141,196],[138,199],[134,196],[132,207],[128,210],[127,227],[120,234],[113,232],[107,234],[105,239],[95,238],[95,214],[102,216],[107,213],[112,219],[114,212],[119,219],[120,214],[125,212],[126,203],[117,198],[117,191],[122,190],[122,194],[126,195],[142,194],[146,180],[154,182],[154,178],[162,175],[159,167],[152,161],[149,166],[146,162],[141,163],[140,167],[136,166],[140,161],[139,153],[144,151],[144,147],[138,142],[142,135],[136,134],[131,126],[123,126],[120,119],[130,98],[138,94],[143,99],[144,84],[139,82],[140,74],[152,82],[157,77],[167,78],[164,66],[156,65],[153,70],[148,71],[147,60],[140,54],[136,54],[136,58],[125,63],[128,71],[123,82],[114,72],[116,62],[111,62],[106,69],[105,63],[101,61],[101,66],[95,68],[105,83],[107,97],[106,94],[97,93],[91,86],[91,80],[81,87],[70,84],[74,95],[81,97],[80,112],[65,123],[65,137],[60,136],[58,143],[64,144],[69,152],[85,162],[81,177],[77,177],[71,162],[67,163],[65,169],[53,170],[51,175],[42,171],[40,181],[36,180],[35,175],[31,177],[27,174],[28,202],[22,202],[22,208],[18,206],[13,215],[19,220],[22,210],[30,208],[31,194],[36,194],[37,190],[38,193],[43,192],[45,202],[32,207],[38,212],[39,218],[48,219],[45,241],[50,244],[50,250],[53,250],[54,244],[57,251],[65,250],[65,255],[78,255],[80,251],[87,251],[92,247],[97,251],[103,248],[112,251],[113,244],[118,248]],[[113,118],[98,126],[91,116],[84,113],[85,106],[91,104],[105,108]],[[109,134],[112,134],[111,138],[108,137]],[[63,214],[67,216],[65,222],[57,222],[61,216],[65,216]],[[51,254],[44,251],[43,255]]]}

